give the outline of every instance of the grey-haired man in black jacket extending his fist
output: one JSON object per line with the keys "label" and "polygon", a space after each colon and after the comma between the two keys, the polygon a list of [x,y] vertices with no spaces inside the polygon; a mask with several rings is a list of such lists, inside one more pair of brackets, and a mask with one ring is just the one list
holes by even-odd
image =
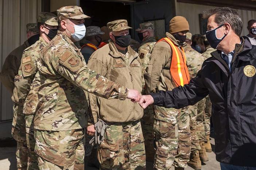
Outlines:
{"label": "grey-haired man in black jacket extending his fist", "polygon": [[240,37],[243,23],[234,9],[210,9],[204,17],[207,40],[217,51],[189,84],[142,96],[140,105],[179,109],[209,94],[221,169],[256,169],[256,46]]}

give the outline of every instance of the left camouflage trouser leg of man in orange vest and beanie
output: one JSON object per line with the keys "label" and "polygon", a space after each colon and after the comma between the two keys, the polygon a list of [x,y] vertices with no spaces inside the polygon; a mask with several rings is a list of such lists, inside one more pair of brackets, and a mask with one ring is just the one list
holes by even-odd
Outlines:
{"label": "left camouflage trouser leg of man in orange vest and beanie", "polygon": [[181,110],[154,106],[154,135],[156,154],[154,168],[168,170],[178,150],[178,114]]}

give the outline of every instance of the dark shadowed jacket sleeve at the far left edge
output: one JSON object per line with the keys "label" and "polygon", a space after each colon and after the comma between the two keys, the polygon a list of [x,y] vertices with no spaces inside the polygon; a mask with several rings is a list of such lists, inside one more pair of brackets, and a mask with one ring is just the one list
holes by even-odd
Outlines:
{"label": "dark shadowed jacket sleeve at the far left edge", "polygon": [[16,76],[19,69],[17,60],[18,59],[15,55],[9,54],[5,59],[0,73],[1,82],[11,94],[13,93],[14,77]]}

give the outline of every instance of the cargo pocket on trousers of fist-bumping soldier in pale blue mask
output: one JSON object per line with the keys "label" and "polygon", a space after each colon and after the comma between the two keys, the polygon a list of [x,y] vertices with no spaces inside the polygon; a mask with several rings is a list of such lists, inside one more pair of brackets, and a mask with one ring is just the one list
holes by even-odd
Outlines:
{"label": "cargo pocket on trousers of fist-bumping soldier in pale blue mask", "polygon": [[39,142],[38,140],[36,140],[35,153],[43,159],[54,163],[55,165],[65,165],[65,153],[59,152],[54,148]]}

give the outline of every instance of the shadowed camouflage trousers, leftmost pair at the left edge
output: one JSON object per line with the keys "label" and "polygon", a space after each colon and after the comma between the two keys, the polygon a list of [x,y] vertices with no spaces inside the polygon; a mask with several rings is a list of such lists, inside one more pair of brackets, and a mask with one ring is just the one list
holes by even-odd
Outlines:
{"label": "shadowed camouflage trousers, leftmost pair at the left edge", "polygon": [[17,142],[17,169],[26,170],[28,164],[28,147],[26,142],[26,125],[23,107],[13,105],[12,137]]}

